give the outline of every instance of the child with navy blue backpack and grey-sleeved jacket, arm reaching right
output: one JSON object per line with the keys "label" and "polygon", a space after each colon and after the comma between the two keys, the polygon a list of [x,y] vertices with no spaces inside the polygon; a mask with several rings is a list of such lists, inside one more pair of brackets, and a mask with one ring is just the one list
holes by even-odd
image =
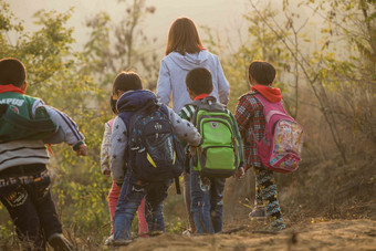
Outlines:
{"label": "child with navy blue backpack and grey-sleeved jacket, arm reaching right", "polygon": [[119,76],[123,81],[113,86],[118,115],[111,136],[112,176],[119,186],[123,182],[114,216],[114,245],[132,241],[132,221],[144,197],[148,231],[165,230],[163,201],[184,164],[177,137],[192,146],[201,140],[189,122],[143,90],[136,73],[122,72]]}

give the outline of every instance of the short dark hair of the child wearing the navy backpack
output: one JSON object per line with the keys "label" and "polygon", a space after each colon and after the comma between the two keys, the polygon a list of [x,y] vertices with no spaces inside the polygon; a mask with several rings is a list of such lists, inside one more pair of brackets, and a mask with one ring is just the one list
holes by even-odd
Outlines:
{"label": "short dark hair of the child wearing the navy backpack", "polygon": [[121,72],[117,74],[113,85],[113,93],[117,91],[132,91],[132,90],[142,90],[143,82],[137,73],[135,72]]}

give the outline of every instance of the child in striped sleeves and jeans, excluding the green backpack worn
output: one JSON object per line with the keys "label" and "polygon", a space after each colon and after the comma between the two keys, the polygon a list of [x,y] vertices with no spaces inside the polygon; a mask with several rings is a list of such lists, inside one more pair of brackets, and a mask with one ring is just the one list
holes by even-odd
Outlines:
{"label": "child in striped sleeves and jeans, excluding the green backpack worn", "polygon": [[[196,67],[188,72],[186,77],[186,85],[189,92],[189,96],[194,101],[203,100],[208,97],[212,92],[212,77],[210,71],[205,67]],[[215,98],[215,97],[211,97]],[[213,100],[215,102],[215,100]],[[197,111],[197,105],[186,104],[180,111],[179,115],[181,118],[191,121],[194,114]],[[240,178],[243,175],[242,168],[242,147],[241,137],[238,132],[237,123],[232,114],[224,108],[224,112],[231,115],[232,126],[234,129],[236,140],[240,143],[240,167],[236,174],[236,177]],[[205,137],[205,135],[202,135]],[[186,167],[187,168],[187,167]],[[197,233],[217,233],[222,230],[222,199],[224,189],[224,178],[206,178],[201,177],[198,171],[192,167],[190,168],[190,209],[194,215],[195,226]],[[201,181],[199,181],[201,180]],[[210,191],[202,189],[200,182],[210,184]],[[210,198],[210,199],[209,199]],[[201,206],[200,206],[201,205]],[[215,213],[216,217],[210,215]]]}

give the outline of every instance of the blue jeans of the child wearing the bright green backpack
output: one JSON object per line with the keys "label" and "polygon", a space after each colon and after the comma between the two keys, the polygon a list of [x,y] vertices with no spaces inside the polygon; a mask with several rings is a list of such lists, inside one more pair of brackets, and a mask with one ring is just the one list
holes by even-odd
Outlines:
{"label": "blue jeans of the child wearing the bright green backpack", "polygon": [[197,233],[222,231],[223,189],[226,179],[210,178],[205,185],[194,168],[190,169],[191,211]]}

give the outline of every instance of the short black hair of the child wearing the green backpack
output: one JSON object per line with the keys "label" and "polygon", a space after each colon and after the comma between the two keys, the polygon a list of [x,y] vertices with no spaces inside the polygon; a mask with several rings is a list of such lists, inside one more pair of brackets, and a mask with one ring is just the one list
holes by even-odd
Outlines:
{"label": "short black hair of the child wearing the green backpack", "polygon": [[211,73],[205,67],[192,69],[187,74],[186,85],[196,95],[210,94],[212,92]]}

